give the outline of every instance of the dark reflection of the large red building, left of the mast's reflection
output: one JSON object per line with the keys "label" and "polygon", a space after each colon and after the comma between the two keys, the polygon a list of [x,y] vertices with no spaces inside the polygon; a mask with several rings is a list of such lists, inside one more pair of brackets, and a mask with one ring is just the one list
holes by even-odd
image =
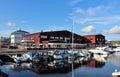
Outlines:
{"label": "dark reflection of the large red building, left of the mast's reflection", "polygon": [[29,68],[29,70],[38,74],[67,73],[68,65],[64,60],[45,61],[42,63],[32,63],[32,68]]}

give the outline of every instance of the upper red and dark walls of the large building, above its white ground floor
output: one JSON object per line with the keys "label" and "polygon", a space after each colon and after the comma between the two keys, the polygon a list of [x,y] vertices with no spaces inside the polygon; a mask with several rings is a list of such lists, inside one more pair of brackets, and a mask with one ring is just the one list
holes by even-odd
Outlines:
{"label": "upper red and dark walls of the large building, above its white ground floor", "polygon": [[[72,43],[72,32],[67,30],[49,31],[28,34],[23,37],[27,40],[34,40],[35,43]],[[74,43],[85,43],[85,38],[74,33]]]}

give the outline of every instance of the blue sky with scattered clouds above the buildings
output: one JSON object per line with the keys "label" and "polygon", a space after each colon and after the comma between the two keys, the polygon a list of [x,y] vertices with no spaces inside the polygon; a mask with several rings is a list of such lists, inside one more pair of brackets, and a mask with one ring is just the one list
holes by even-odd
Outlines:
{"label": "blue sky with scattered clouds above the buildings", "polygon": [[120,40],[120,0],[0,0],[0,36],[68,30]]}

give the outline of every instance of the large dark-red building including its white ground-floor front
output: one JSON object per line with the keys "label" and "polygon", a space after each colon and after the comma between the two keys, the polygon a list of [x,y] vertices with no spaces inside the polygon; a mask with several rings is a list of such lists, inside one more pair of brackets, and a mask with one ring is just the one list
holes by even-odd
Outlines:
{"label": "large dark-red building including its white ground-floor front", "polygon": [[36,46],[44,48],[71,48],[72,43],[75,47],[82,47],[85,44],[84,37],[73,33],[72,38],[72,32],[67,30],[27,34],[23,36],[23,39],[33,40]]}

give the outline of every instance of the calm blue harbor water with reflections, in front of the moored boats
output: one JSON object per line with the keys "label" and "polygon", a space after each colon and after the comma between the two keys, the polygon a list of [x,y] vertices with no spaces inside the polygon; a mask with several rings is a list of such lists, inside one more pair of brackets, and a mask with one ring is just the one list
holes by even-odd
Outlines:
{"label": "calm blue harbor water with reflections, in front of the moored boats", "polygon": [[75,60],[5,63],[0,66],[8,77],[112,77],[115,69],[120,70],[119,52],[107,57],[94,55]]}

